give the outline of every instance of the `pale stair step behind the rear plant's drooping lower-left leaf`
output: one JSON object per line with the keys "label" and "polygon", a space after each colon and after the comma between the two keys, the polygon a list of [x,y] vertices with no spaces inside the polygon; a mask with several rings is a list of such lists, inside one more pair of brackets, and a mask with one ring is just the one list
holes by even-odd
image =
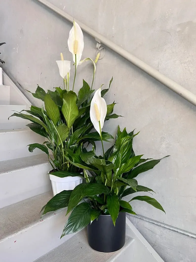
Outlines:
{"label": "pale stair step behind the rear plant's drooping lower-left leaf", "polygon": [[45,138],[29,128],[0,130],[0,161],[41,154],[39,149],[28,151],[28,144],[42,144]]}

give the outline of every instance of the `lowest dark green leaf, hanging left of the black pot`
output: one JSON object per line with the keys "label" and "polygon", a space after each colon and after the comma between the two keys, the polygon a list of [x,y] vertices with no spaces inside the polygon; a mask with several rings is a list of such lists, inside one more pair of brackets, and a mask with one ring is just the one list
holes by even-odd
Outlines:
{"label": "lowest dark green leaf, hanging left of the black pot", "polygon": [[74,208],[65,224],[61,238],[67,234],[78,232],[91,221],[91,207],[88,203],[81,203]]}

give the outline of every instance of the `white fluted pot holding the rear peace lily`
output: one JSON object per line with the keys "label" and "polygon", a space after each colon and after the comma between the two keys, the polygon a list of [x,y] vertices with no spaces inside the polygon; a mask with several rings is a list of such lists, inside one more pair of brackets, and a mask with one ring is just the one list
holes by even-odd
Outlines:
{"label": "white fluted pot holding the rear peace lily", "polygon": [[57,177],[50,174],[50,180],[53,188],[53,195],[60,193],[63,190],[73,190],[77,185],[82,183],[82,177]]}

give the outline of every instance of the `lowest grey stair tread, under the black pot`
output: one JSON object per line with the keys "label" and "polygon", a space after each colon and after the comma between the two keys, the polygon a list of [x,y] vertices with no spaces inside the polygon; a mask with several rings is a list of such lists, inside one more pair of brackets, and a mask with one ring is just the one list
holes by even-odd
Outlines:
{"label": "lowest grey stair tread, under the black pot", "polygon": [[[133,238],[126,236],[124,247],[132,241]],[[34,262],[106,262],[118,255],[121,250],[109,254],[96,252],[89,246],[87,231],[84,229]]]}

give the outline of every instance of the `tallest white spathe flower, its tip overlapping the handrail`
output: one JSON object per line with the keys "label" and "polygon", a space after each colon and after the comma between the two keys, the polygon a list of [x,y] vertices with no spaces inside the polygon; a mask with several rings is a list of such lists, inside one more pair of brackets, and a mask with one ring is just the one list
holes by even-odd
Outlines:
{"label": "tallest white spathe flower, its tip overlapping the handrail", "polygon": [[[82,57],[82,52],[84,49],[84,36],[82,33],[82,29],[75,21],[73,21],[73,27],[70,30],[70,35],[67,44],[68,44],[69,51],[73,55],[73,62],[76,63],[76,67],[77,67]],[[75,61],[75,55],[76,55],[76,61]]]}

